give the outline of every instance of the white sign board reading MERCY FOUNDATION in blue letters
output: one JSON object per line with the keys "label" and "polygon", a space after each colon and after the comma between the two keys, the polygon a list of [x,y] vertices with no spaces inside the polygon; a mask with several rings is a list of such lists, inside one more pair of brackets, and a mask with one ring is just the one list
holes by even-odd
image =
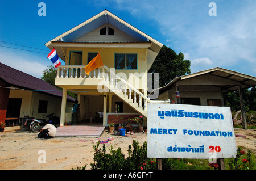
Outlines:
{"label": "white sign board reading MERCY FOUNDATION in blue letters", "polygon": [[147,104],[148,158],[232,158],[236,150],[229,107]]}

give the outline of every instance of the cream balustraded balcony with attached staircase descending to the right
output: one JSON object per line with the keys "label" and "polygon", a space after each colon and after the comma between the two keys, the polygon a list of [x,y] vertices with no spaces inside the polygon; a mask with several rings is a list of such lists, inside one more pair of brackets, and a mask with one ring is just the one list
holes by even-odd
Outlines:
{"label": "cream balustraded balcony with attached staircase descending to the right", "polygon": [[111,92],[144,116],[147,115],[147,103],[170,103],[150,100],[133,85],[115,74],[114,69],[109,69],[105,65],[91,71],[89,75],[85,73],[84,68],[85,66],[76,65],[59,66],[55,85],[69,90],[94,89],[100,93]]}

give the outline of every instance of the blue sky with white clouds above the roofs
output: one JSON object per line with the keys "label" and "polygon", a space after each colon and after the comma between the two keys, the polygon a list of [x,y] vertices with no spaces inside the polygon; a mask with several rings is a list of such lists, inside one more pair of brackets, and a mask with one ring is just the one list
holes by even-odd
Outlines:
{"label": "blue sky with white clouds above the roofs", "polygon": [[[38,15],[40,2],[46,4],[46,16]],[[216,3],[217,16],[209,15],[210,2]],[[43,69],[52,65],[44,44],[105,9],[182,52],[192,73],[219,66],[256,77],[255,0],[2,0],[0,62],[42,77]]]}

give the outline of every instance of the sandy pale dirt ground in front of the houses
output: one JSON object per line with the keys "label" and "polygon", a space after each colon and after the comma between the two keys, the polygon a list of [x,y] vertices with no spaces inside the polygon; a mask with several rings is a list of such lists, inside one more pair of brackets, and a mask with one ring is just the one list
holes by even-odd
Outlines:
{"label": "sandy pale dirt ground in front of the houses", "polygon": [[[236,129],[234,132],[246,136],[236,137],[237,146],[244,146],[256,152],[256,131]],[[84,166],[85,163],[86,169],[90,169],[90,163],[93,163],[93,145],[96,145],[98,137],[56,137],[41,140],[37,135],[38,133],[27,131],[0,133],[0,169],[70,170],[72,167]],[[101,137],[112,137],[113,140],[106,144],[106,148],[111,145],[114,149],[120,147],[124,154],[127,154],[128,145],[131,145],[133,140],[137,140],[141,145],[147,141],[147,133],[118,137],[104,131]],[[46,163],[39,163],[43,160],[40,159],[40,150],[46,153]]]}

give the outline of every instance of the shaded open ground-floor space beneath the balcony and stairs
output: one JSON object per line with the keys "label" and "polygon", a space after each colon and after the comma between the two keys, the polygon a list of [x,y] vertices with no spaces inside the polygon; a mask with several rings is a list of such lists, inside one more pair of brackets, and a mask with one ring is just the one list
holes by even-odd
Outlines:
{"label": "shaded open ground-floor space beneath the balcony and stairs", "polygon": [[[129,118],[141,116],[129,103],[124,102],[115,94],[78,94],[80,112],[77,113],[78,124],[97,124],[107,126],[110,123],[125,124]],[[62,104],[65,107],[64,104]],[[72,112],[65,111],[60,126],[72,124]],[[135,125],[136,123],[132,123]]]}

